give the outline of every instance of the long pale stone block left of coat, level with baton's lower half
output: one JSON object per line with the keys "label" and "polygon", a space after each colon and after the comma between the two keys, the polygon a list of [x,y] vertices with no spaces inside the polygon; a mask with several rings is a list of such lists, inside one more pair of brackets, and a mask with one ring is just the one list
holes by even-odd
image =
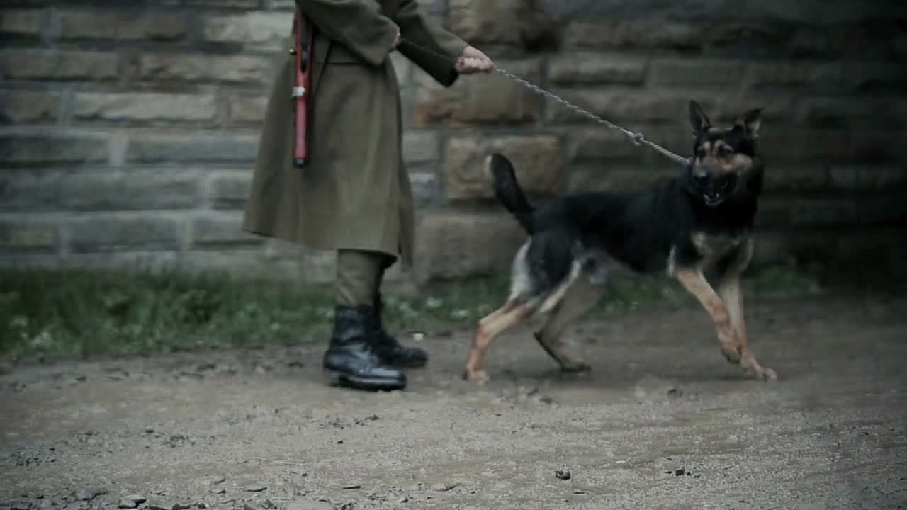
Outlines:
{"label": "long pale stone block left of coat, level with baton's lower half", "polygon": [[211,121],[216,113],[213,94],[86,92],[73,98],[73,118],[80,121]]}

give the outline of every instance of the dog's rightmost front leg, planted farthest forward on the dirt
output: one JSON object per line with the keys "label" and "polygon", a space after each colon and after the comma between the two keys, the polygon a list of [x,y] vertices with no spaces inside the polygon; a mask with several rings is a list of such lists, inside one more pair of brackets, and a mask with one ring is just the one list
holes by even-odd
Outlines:
{"label": "dog's rightmost front leg, planted farthest forward on the dirt", "polygon": [[746,320],[743,313],[743,293],[740,291],[740,274],[746,270],[752,254],[752,241],[747,241],[744,246],[736,250],[721,275],[717,293],[727,307],[727,316],[730,319],[731,328],[736,332],[737,349],[740,353],[740,367],[757,378],[775,379],[777,378],[775,370],[759,365],[753,351],[749,349],[749,340],[746,338]]}

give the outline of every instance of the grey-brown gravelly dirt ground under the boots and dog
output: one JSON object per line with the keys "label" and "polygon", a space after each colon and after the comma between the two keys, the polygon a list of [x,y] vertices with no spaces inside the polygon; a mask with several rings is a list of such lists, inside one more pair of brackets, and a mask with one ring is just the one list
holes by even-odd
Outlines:
{"label": "grey-brown gravelly dirt ground under the boots and dog", "polygon": [[326,387],[320,348],[18,367],[0,507],[907,507],[907,299],[747,318],[775,383],[728,364],[701,309],[578,324],[580,377],[514,330],[485,386],[460,378],[468,329],[425,339],[393,393]]}

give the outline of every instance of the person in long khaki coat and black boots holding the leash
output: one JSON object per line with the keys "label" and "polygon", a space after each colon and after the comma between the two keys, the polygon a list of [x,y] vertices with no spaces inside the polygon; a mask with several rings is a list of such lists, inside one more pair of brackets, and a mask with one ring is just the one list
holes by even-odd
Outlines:
{"label": "person in long khaki coat and black boots holding the leash", "polygon": [[459,74],[490,72],[493,62],[435,24],[416,0],[296,5],[314,31],[308,162],[301,169],[292,162],[295,57],[288,55],[268,99],[243,228],[336,250],[334,330],[322,362],[329,380],[403,388],[400,369],[424,366],[428,357],[401,345],[381,321],[382,276],[396,260],[410,267],[414,245],[400,96],[388,55],[399,51],[444,86]]}

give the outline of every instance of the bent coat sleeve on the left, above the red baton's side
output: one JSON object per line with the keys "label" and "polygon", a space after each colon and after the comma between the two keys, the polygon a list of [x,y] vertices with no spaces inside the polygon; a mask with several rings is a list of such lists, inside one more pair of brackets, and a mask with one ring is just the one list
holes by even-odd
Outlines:
{"label": "bent coat sleeve on the left, above the red baton's side", "polygon": [[296,5],[318,30],[368,64],[383,63],[391,52],[397,25],[375,0],[296,0]]}

